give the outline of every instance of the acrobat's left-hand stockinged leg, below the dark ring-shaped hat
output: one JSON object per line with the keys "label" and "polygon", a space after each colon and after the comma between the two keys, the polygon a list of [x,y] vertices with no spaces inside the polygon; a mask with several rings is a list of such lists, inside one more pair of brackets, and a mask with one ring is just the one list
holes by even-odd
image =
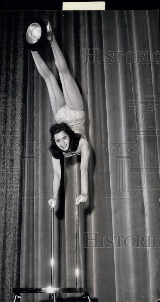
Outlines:
{"label": "acrobat's left-hand stockinged leg, below the dark ring-shaped hat", "polygon": [[35,65],[38,69],[38,72],[43,77],[43,79],[45,79],[45,82],[47,84],[51,107],[55,117],[58,110],[65,105],[64,95],[60,90],[60,87],[57,83],[54,74],[43,61],[38,51],[31,51],[31,53],[35,61]]}

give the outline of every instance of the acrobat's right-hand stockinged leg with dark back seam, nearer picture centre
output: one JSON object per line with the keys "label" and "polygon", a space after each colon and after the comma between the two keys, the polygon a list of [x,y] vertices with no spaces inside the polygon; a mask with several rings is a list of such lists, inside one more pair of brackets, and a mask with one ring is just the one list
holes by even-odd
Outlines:
{"label": "acrobat's right-hand stockinged leg with dark back seam, nearer picture centre", "polygon": [[82,111],[83,110],[82,96],[80,94],[79,88],[75,80],[72,78],[69,72],[69,69],[66,64],[66,60],[57,44],[54,35],[53,35],[53,40],[50,43],[55,58],[55,64],[59,71],[66,105],[74,110]]}

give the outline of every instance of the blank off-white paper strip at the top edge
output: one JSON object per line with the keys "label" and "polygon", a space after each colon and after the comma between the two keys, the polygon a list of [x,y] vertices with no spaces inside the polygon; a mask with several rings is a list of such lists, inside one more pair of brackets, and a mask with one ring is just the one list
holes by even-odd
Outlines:
{"label": "blank off-white paper strip at the top edge", "polygon": [[63,11],[105,11],[104,1],[63,2]]}

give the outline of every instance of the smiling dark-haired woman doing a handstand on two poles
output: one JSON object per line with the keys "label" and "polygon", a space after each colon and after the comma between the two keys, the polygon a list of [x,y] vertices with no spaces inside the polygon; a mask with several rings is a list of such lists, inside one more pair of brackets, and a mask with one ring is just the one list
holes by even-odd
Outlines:
{"label": "smiling dark-haired woman doing a handstand on two poles", "polygon": [[[53,196],[48,203],[51,207],[55,207],[57,204],[61,178],[60,157],[81,154],[81,194],[76,198],[76,204],[79,204],[80,202],[86,202],[88,198],[89,145],[85,132],[83,100],[78,86],[69,72],[63,53],[52,33],[51,24],[45,16],[42,18],[47,27],[47,40],[51,43],[55,64],[59,71],[63,88],[62,93],[54,74],[42,60],[38,51],[31,50],[38,72],[47,84],[52,111],[57,122],[57,124],[50,128],[50,151],[52,153],[54,179]],[[31,31],[28,28],[26,31],[26,40],[30,44],[38,41],[41,35],[40,27],[32,26],[32,29]]]}

